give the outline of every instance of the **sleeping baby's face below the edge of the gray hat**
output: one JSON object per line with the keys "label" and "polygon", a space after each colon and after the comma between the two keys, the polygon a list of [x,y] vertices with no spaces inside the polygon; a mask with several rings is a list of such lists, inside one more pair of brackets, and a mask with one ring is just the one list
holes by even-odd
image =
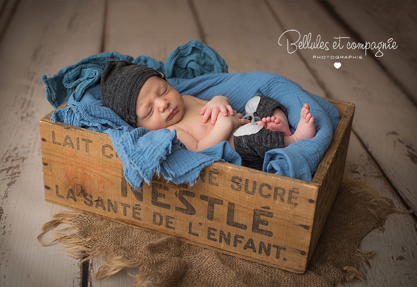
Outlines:
{"label": "sleeping baby's face below the edge of the gray hat", "polygon": [[175,125],[184,115],[184,100],[166,81],[149,77],[136,102],[136,127],[160,130]]}

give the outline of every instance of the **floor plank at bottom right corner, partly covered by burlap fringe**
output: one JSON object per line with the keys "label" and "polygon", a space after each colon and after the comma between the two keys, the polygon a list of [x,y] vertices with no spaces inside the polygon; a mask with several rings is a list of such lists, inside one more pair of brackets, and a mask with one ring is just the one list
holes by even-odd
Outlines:
{"label": "floor plank at bottom right corner, partly covered by burlap fringe", "polygon": [[[381,195],[390,198],[394,206],[406,210],[396,196],[380,168],[361,142],[353,135],[350,138],[344,179],[359,180],[372,186]],[[344,283],[345,286],[409,286],[417,281],[417,222],[411,215],[390,214],[383,227],[369,232],[361,241],[359,249],[374,251],[369,260],[371,266],[365,267],[366,280]]]}

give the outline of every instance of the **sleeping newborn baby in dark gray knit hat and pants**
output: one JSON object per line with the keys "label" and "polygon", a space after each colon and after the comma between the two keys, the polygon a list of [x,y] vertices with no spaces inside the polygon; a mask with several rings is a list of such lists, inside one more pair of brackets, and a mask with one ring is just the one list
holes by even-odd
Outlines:
{"label": "sleeping newborn baby in dark gray knit hat and pants", "polygon": [[[316,134],[314,117],[304,104],[294,134],[286,108],[267,96],[251,98],[245,116],[233,110],[224,96],[205,101],[180,95],[161,72],[126,61],[108,61],[101,76],[103,106],[111,108],[132,127],[175,129],[191,151],[201,151],[227,140],[242,165],[262,170],[265,153]],[[221,113],[221,115],[219,115]],[[211,121],[207,121],[211,117]],[[156,143],[157,144],[157,143]]]}

